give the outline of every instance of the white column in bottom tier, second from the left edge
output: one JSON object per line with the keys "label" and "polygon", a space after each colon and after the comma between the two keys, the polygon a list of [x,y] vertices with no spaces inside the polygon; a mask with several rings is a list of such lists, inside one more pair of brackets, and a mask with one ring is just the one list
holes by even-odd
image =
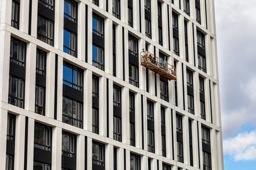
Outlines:
{"label": "white column in bottom tier, second from the left edge", "polygon": [[14,170],[24,167],[25,118],[23,115],[16,116]]}

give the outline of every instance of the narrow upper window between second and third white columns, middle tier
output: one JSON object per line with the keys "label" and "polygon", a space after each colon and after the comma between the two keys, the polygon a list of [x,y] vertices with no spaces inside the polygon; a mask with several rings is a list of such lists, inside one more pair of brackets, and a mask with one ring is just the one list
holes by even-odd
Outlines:
{"label": "narrow upper window between second and third white columns, middle tier", "polygon": [[46,76],[46,53],[40,49],[36,50],[36,72]]}

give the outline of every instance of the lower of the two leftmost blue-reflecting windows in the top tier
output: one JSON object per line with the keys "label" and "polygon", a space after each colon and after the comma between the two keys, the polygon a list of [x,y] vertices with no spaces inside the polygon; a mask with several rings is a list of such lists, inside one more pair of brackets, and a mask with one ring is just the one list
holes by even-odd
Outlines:
{"label": "lower of the two leftmost blue-reflecting windows in the top tier", "polygon": [[63,51],[76,57],[76,34],[64,28]]}

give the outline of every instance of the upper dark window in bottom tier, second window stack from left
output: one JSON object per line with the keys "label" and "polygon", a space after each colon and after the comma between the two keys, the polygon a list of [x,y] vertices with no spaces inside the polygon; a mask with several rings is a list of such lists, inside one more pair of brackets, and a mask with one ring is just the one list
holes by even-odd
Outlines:
{"label": "upper dark window in bottom tier, second window stack from left", "polygon": [[51,127],[35,122],[34,147],[51,151]]}

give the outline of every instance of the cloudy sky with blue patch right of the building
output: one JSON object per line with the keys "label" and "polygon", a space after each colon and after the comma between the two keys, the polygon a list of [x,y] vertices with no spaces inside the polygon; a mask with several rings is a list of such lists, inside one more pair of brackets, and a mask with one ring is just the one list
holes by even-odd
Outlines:
{"label": "cloudy sky with blue patch right of the building", "polygon": [[225,170],[256,169],[256,0],[215,0]]}

